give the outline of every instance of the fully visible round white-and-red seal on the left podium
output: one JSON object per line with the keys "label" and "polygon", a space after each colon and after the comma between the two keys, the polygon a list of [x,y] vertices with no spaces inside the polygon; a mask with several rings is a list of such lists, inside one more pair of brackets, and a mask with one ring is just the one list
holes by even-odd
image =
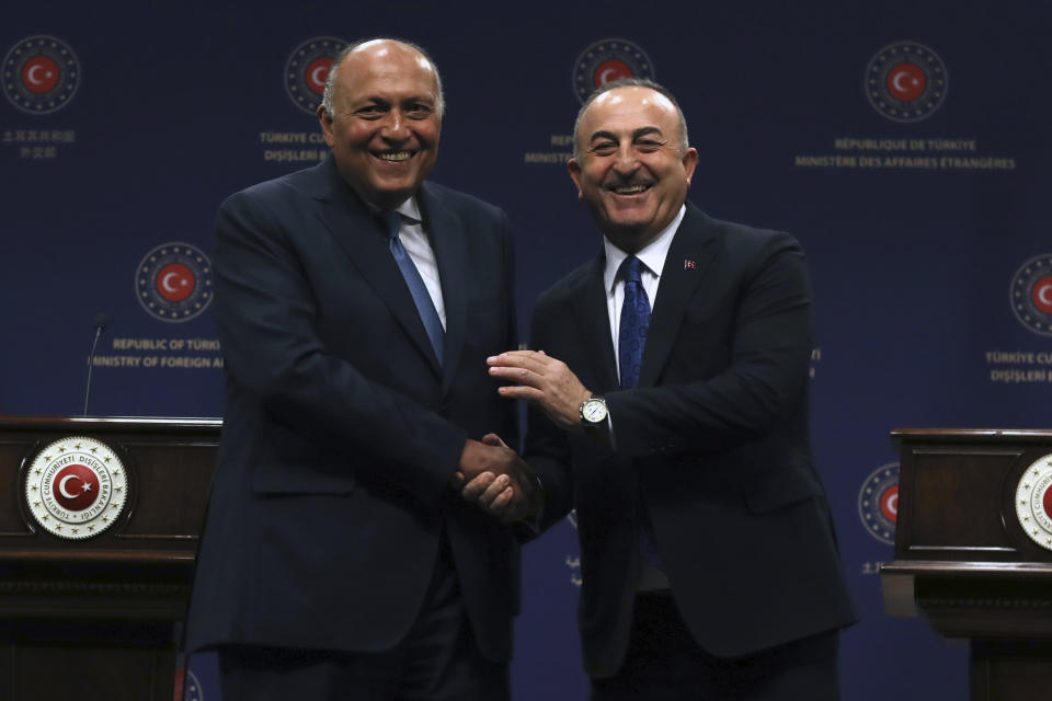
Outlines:
{"label": "fully visible round white-and-red seal on the left podium", "polygon": [[59,538],[100,535],[124,513],[128,474],[104,443],[85,436],[46,445],[25,478],[25,503],[39,526]]}

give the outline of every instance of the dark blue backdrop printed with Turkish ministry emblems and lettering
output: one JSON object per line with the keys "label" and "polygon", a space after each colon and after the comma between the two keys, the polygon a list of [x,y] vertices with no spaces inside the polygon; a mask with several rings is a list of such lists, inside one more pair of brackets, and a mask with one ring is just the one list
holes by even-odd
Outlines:
{"label": "dark blue backdrop printed with Turkish ministry emblems and lettering", "polygon": [[[219,202],[324,153],[313,79],[348,39],[426,46],[447,113],[433,179],[504,207],[525,337],[536,295],[599,245],[565,174],[591,82],[679,99],[711,215],[793,232],[819,342],[813,434],[862,621],[845,698],[964,698],[967,650],[883,614],[896,426],[1047,426],[1049,16],[1041,3],[236,2],[5,8],[0,411],[217,416]],[[581,699],[578,548],[525,551],[518,699]],[[769,576],[778,577],[778,572]],[[218,699],[207,657],[187,698]]]}

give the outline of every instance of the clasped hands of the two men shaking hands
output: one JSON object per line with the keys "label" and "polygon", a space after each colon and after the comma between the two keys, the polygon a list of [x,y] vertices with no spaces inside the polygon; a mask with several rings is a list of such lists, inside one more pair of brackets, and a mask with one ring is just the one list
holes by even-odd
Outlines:
{"label": "clasped hands of the two men shaking hands", "polygon": [[468,439],[451,484],[465,501],[505,524],[533,518],[545,505],[534,471],[496,434]]}

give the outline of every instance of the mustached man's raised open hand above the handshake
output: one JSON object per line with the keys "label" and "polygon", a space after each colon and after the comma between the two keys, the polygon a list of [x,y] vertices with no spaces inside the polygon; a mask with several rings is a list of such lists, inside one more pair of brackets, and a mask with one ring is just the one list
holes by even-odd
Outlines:
{"label": "mustached man's raised open hand above the handshake", "polygon": [[580,433],[581,404],[592,397],[565,363],[544,350],[508,350],[487,358],[490,375],[518,386],[500,388],[501,397],[525,399],[563,430]]}

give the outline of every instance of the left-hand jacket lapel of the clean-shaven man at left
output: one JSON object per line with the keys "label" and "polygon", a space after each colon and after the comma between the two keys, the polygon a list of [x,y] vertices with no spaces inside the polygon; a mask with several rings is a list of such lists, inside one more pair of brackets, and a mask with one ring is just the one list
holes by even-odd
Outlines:
{"label": "left-hand jacket lapel of the clean-shaven man at left", "polygon": [[331,157],[318,168],[321,172],[328,171],[324,183],[315,194],[315,198],[321,203],[319,218],[420,352],[427,357],[435,372],[439,374],[438,358],[431,347],[409,286],[391,256],[382,225],[343,182]]}

